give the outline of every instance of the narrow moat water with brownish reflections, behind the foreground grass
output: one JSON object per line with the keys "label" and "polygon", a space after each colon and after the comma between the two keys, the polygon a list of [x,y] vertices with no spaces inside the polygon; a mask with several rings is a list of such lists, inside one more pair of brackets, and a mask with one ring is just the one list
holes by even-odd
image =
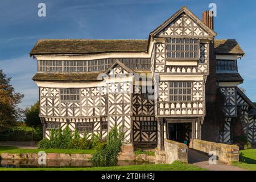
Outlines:
{"label": "narrow moat water with brownish reflections, behind the foreground grass", "polygon": [[[38,160],[0,160],[0,167],[36,168],[36,167],[92,167],[89,160],[46,160],[46,165],[38,164]],[[150,164],[149,162],[119,161],[118,166]]]}

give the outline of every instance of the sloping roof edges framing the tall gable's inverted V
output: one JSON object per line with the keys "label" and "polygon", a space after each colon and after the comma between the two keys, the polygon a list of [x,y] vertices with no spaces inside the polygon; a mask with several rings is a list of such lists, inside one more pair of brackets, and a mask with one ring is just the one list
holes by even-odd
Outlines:
{"label": "sloping roof edges framing the tall gable's inverted V", "polygon": [[199,26],[201,28],[203,28],[203,30],[205,30],[206,32],[208,32],[208,34],[210,36],[216,36],[217,33],[214,32],[212,29],[210,29],[209,27],[207,27],[203,22],[201,22],[201,20],[192,13],[192,11],[190,11],[186,6],[183,6],[179,11],[177,11],[174,15],[172,15],[170,18],[168,18],[165,22],[163,22],[162,24],[160,24],[159,27],[157,27],[154,31],[152,31],[150,33],[150,36],[155,36],[157,35],[160,31],[162,31],[165,27],[168,26],[168,24],[170,24],[171,22],[173,22],[177,17],[179,17],[181,14],[187,14],[189,16],[189,18],[191,18],[192,20],[194,20],[197,24],[199,24]]}

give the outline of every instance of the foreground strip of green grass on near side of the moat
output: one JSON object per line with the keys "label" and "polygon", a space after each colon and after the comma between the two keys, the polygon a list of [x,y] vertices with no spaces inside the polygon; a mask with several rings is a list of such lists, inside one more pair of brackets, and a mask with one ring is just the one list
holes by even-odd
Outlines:
{"label": "foreground strip of green grass on near side of the moat", "polygon": [[88,168],[0,168],[0,171],[207,171],[206,169],[175,162],[174,164],[147,164],[136,166]]}

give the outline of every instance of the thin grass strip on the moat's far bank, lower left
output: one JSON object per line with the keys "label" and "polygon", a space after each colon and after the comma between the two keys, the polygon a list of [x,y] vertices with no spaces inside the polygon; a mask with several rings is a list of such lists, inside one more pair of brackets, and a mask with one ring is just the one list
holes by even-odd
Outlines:
{"label": "thin grass strip on the moat's far bank, lower left", "polygon": [[39,151],[45,151],[46,153],[61,153],[61,154],[93,154],[94,150],[69,150],[69,149],[20,149],[20,148],[11,148],[11,147],[1,147],[1,153],[9,154],[22,154],[22,153],[38,153]]}

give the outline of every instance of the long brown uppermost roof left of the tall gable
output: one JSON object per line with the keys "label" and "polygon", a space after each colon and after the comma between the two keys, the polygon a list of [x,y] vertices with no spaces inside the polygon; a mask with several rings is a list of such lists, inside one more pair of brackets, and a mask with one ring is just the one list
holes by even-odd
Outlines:
{"label": "long brown uppermost roof left of the tall gable", "polygon": [[40,39],[30,55],[146,51],[147,40]]}

